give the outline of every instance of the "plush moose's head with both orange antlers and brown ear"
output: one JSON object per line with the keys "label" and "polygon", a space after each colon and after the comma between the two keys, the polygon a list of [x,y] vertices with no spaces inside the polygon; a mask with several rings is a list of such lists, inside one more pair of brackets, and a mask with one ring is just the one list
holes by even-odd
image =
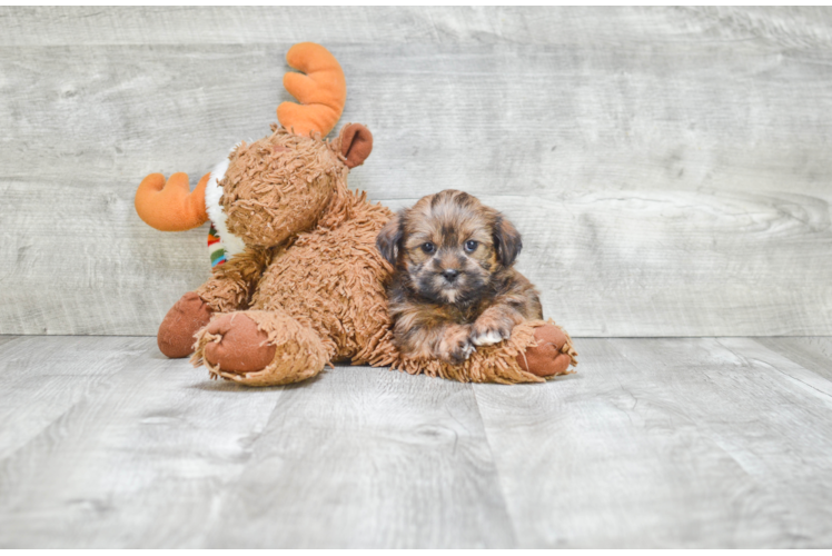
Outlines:
{"label": "plush moose's head with both orange antlers and brown ear", "polygon": [[[284,76],[284,86],[301,103],[281,103],[277,109],[280,127],[273,126],[273,133],[258,141],[238,145],[214,172],[216,186],[204,179],[188,195],[187,179],[177,183],[176,191],[174,177],[165,190],[159,179],[147,187],[142,182],[136,209],[146,222],[157,229],[186,230],[206,222],[211,212],[222,231],[256,247],[278,245],[315,226],[333,197],[346,189],[349,169],[369,156],[373,135],[350,123],[337,139],[321,140],[344,109],[344,72],[333,54],[311,42],[295,44],[286,59],[305,72]],[[210,199],[212,195],[219,196],[218,205],[216,197]],[[215,215],[219,209],[221,215]]]}

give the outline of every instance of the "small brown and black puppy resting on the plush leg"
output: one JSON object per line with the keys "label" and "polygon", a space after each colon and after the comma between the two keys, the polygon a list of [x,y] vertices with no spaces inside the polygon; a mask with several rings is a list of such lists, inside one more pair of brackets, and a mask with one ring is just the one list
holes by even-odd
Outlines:
{"label": "small brown and black puppy resting on the plush leg", "polygon": [[523,247],[503,215],[447,189],[399,211],[376,246],[394,266],[394,342],[412,358],[459,364],[515,325],[542,319],[534,286],[512,265]]}

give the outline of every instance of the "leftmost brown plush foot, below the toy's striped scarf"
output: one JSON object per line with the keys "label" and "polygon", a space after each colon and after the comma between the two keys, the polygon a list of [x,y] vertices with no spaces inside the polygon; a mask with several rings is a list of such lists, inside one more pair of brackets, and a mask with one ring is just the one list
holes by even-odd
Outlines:
{"label": "leftmost brown plush foot, below the toy's striped scarf", "polygon": [[176,359],[194,353],[194,335],[211,320],[210,307],[194,291],[185,294],[159,325],[159,351]]}

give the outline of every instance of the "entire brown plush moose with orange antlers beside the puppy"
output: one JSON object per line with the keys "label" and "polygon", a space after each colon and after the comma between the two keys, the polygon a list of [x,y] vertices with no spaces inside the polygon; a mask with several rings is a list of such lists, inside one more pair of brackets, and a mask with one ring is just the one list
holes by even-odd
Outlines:
{"label": "entire brown plush moose with orange antlers beside the puppy", "polygon": [[271,135],[237,145],[189,192],[188,177],[143,179],[136,210],[159,230],[211,221],[212,272],[159,327],[168,357],[192,354],[212,378],[251,386],[295,383],[327,364],[392,366],[463,381],[526,383],[563,375],[577,355],[554,322],[518,325],[460,365],[404,358],[392,342],[385,287],[393,268],[376,236],[393,216],[347,188],[373,149],[358,123],[324,140],[340,118],[346,82],[337,60],[304,42],[287,53],[286,89]]}

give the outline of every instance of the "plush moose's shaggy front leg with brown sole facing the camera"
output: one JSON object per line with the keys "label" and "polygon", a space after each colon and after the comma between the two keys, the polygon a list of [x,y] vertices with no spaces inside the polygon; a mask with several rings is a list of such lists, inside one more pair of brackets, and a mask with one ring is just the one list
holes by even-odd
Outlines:
{"label": "plush moose's shaggy front leg with brown sole facing the camera", "polygon": [[313,329],[280,310],[218,315],[197,334],[195,366],[211,378],[274,386],[314,377],[331,354]]}

